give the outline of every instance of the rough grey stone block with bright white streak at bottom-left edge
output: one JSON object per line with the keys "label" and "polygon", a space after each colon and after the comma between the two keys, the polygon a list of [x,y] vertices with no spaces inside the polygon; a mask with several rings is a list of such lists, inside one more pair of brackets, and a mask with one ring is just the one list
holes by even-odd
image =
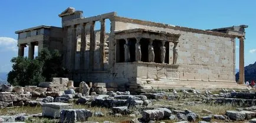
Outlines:
{"label": "rough grey stone block with bright white streak at bottom-left edge", "polygon": [[83,122],[92,115],[93,112],[87,109],[63,109],[60,112],[60,119],[62,123]]}

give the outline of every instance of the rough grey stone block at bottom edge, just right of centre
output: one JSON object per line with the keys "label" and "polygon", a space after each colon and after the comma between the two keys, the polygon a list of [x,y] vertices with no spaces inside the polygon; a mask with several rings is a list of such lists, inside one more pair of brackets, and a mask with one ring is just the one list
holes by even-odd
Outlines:
{"label": "rough grey stone block at bottom edge, just right of centre", "polygon": [[153,110],[146,110],[142,112],[143,121],[159,120],[163,118],[164,118],[164,111],[153,109]]}

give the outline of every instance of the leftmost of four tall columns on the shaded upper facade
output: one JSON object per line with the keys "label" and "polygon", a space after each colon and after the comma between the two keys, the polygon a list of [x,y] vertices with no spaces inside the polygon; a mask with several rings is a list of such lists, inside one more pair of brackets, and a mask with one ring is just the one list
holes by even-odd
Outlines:
{"label": "leftmost of four tall columns on the shaded upper facade", "polygon": [[76,69],[76,45],[77,45],[77,37],[76,37],[76,25],[72,25],[72,38],[71,38],[71,69]]}

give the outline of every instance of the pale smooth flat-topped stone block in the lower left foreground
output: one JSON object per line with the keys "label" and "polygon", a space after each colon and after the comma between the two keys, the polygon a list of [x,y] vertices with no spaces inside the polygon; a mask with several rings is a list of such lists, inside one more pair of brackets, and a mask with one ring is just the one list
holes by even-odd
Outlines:
{"label": "pale smooth flat-topped stone block in the lower left foreground", "polygon": [[42,105],[42,117],[59,118],[63,109],[70,109],[72,104],[49,102]]}

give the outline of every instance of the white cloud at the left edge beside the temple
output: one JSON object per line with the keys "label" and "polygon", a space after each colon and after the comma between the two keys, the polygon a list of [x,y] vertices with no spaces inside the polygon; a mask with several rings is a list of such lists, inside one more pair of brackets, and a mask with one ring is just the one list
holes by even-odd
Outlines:
{"label": "white cloud at the left edge beside the temple", "polygon": [[0,51],[17,51],[17,40],[9,37],[0,37]]}

